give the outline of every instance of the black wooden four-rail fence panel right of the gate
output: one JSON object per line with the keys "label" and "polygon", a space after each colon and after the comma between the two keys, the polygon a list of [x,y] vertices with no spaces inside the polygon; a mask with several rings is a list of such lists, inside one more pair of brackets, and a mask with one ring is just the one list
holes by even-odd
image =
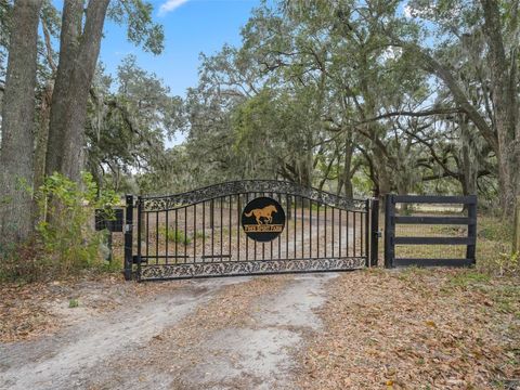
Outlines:
{"label": "black wooden four-rail fence panel right of the gate", "polygon": [[[467,209],[467,217],[453,216],[396,216],[396,204],[460,204]],[[385,266],[469,266],[476,263],[477,245],[477,196],[414,196],[393,195],[385,204]],[[467,237],[411,237],[396,236],[399,224],[422,225],[467,225]],[[395,245],[466,245],[466,258],[395,258]]]}

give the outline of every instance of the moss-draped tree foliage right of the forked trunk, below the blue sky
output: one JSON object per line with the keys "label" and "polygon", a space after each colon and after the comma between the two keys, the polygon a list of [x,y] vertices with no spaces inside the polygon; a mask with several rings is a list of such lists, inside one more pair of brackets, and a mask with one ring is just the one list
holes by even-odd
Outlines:
{"label": "moss-draped tree foliage right of the forked trunk, below the blue sky", "polygon": [[132,55],[118,67],[117,84],[115,89],[112,78],[98,72],[86,129],[89,170],[103,186],[134,192],[129,174],[134,167],[146,172],[138,177],[140,190],[162,190],[165,181],[171,182],[167,173],[184,165],[182,154],[165,150],[165,134],[172,135],[178,126],[180,98],[171,96],[164,81],[139,67]]}

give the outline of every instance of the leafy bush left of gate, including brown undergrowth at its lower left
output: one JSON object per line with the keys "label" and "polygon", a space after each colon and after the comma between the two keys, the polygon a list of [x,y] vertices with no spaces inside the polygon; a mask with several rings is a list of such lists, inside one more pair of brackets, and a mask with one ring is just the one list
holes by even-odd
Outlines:
{"label": "leafy bush left of gate, including brown undergrowth at its lower left", "polygon": [[93,229],[94,209],[110,214],[117,203],[114,192],[99,192],[89,173],[82,183],[54,173],[35,192],[40,216],[35,237],[2,261],[0,278],[25,280],[75,273],[103,264],[104,232]]}

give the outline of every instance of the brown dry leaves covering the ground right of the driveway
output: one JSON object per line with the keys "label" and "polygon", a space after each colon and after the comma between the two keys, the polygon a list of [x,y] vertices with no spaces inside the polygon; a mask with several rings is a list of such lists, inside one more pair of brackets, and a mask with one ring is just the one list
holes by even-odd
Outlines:
{"label": "brown dry leaves covering the ground right of the driveway", "polygon": [[300,354],[301,387],[520,386],[518,281],[454,283],[465,272],[375,270],[333,281],[323,332]]}

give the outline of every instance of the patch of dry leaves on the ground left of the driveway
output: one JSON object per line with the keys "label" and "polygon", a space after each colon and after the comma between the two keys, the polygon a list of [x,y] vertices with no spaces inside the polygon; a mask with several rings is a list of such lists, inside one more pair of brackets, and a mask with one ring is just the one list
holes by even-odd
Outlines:
{"label": "patch of dry leaves on the ground left of the driveway", "polygon": [[[0,342],[48,335],[86,315],[135,304],[185,283],[136,284],[117,274],[88,274],[47,283],[0,284]],[[69,308],[72,300],[77,308]]]}

